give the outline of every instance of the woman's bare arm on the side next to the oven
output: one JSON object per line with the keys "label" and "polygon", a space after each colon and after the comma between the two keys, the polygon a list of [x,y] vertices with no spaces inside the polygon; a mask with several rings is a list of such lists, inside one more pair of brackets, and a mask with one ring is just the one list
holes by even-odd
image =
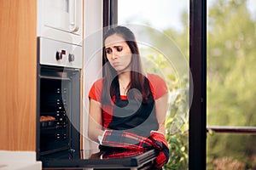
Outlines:
{"label": "woman's bare arm on the side next to the oven", "polygon": [[94,99],[90,99],[88,136],[98,143],[98,136],[102,135],[102,133],[101,104]]}

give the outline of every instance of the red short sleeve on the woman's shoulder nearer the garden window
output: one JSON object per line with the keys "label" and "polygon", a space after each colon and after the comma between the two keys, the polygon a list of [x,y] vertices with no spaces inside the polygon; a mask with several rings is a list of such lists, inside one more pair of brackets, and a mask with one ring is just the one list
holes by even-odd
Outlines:
{"label": "red short sleeve on the woman's shoulder nearer the garden window", "polygon": [[150,82],[150,88],[154,99],[160,99],[160,97],[168,93],[166,82],[162,77],[148,74],[148,81]]}

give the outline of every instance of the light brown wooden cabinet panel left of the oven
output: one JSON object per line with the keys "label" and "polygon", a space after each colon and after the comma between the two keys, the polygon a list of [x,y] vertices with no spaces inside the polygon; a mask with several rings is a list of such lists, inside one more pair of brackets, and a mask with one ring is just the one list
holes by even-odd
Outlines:
{"label": "light brown wooden cabinet panel left of the oven", "polygon": [[0,1],[0,150],[36,150],[37,1]]}

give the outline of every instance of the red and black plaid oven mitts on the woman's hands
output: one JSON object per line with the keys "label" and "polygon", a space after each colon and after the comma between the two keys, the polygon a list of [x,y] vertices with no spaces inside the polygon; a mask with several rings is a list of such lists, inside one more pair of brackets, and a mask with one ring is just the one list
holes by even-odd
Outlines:
{"label": "red and black plaid oven mitts on the woman's hands", "polygon": [[[125,131],[107,130],[102,139],[102,145],[107,147],[117,147],[127,150],[126,152],[115,152],[106,157],[133,156],[137,151],[157,149],[159,155],[154,160],[154,169],[161,169],[169,160],[169,147],[163,133],[154,131],[149,138],[139,136],[135,133]],[[129,151],[130,150],[130,151]],[[132,150],[136,150],[133,152]]]}

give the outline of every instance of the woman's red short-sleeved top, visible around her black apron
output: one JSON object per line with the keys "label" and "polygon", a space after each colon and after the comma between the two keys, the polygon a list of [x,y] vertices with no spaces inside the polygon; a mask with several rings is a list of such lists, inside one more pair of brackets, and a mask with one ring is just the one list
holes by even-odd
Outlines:
{"label": "woman's red short-sleeved top, visible around her black apron", "polygon": [[[168,88],[166,82],[163,78],[155,74],[148,74],[148,82],[153,94],[154,100],[160,99],[164,94],[168,93]],[[99,79],[90,88],[89,98],[101,102],[103,79]],[[127,99],[125,95],[120,96],[121,99]],[[104,127],[108,127],[108,124],[112,120],[113,106],[112,105],[102,105],[102,123]]]}

